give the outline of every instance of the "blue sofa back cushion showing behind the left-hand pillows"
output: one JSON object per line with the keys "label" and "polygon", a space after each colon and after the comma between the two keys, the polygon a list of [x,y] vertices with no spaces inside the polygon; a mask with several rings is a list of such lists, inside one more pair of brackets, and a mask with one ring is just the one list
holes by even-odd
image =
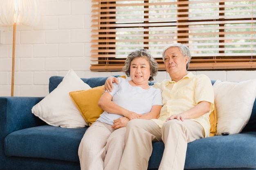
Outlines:
{"label": "blue sofa back cushion showing behind the left-hand pillows", "polygon": [[[120,75],[113,75],[114,77],[119,77]],[[51,76],[49,78],[49,93],[51,93],[58,84],[63,80],[63,76]],[[97,87],[104,85],[108,77],[92,77],[92,78],[81,78],[83,82],[90,85],[90,87]]]}

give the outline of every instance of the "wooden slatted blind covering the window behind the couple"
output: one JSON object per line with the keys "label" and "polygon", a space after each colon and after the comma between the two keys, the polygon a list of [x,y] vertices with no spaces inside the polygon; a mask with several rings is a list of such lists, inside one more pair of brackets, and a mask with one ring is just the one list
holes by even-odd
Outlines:
{"label": "wooden slatted blind covering the window behind the couple", "polygon": [[146,48],[165,70],[162,49],[189,46],[189,70],[256,68],[255,0],[92,0],[92,71],[121,71]]}

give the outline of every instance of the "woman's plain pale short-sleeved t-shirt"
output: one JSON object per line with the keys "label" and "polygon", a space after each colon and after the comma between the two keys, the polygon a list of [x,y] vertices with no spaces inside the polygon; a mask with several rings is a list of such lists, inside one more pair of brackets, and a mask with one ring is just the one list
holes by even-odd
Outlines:
{"label": "woman's plain pale short-sleeved t-shirt", "polygon": [[[112,101],[117,105],[133,111],[137,114],[150,112],[153,105],[162,104],[162,91],[154,87],[143,89],[139,86],[132,86],[125,78],[118,78],[119,84],[113,83],[114,89],[109,92]],[[96,121],[112,125],[115,119],[123,117],[119,114],[104,111]]]}

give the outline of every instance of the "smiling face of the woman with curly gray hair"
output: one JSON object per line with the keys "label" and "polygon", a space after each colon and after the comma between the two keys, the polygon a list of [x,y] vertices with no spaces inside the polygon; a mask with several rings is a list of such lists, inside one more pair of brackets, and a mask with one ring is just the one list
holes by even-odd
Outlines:
{"label": "smiling face of the woman with curly gray hair", "polygon": [[145,57],[135,58],[130,63],[130,77],[136,84],[148,84],[150,77],[149,61]]}

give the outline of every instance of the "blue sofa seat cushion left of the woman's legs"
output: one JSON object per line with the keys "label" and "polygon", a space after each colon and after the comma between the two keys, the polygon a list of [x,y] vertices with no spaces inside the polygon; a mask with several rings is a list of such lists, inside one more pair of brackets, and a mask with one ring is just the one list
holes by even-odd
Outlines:
{"label": "blue sofa seat cushion left of the woman's legs", "polygon": [[79,143],[88,128],[36,126],[10,133],[4,139],[8,157],[47,158],[79,162]]}

